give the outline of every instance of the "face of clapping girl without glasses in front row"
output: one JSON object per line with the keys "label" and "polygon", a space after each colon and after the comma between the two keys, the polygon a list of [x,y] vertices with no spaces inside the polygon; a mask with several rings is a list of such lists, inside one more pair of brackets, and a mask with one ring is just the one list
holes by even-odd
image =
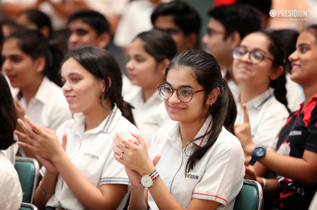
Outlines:
{"label": "face of clapping girl without glasses in front row", "polygon": [[96,79],[74,58],[69,58],[61,67],[61,81],[64,96],[73,113],[90,112],[101,105],[105,83]]}

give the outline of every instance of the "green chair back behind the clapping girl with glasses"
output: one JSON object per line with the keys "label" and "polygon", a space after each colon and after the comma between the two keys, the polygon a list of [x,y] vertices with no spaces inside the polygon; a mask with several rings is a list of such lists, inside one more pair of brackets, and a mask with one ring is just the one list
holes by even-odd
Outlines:
{"label": "green chair back behind the clapping girl with glasses", "polygon": [[263,208],[263,190],[259,182],[245,179],[236,196],[234,210],[261,210]]}

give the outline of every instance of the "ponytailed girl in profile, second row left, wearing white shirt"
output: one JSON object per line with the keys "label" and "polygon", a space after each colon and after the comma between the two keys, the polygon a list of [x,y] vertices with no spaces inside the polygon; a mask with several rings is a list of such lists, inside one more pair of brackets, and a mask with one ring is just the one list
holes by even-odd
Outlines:
{"label": "ponytailed girl in profile, second row left, wearing white shirt", "polygon": [[[63,56],[39,31],[21,29],[10,34],[4,39],[2,57],[2,69],[11,86],[19,88],[13,97],[20,119],[24,121],[27,114],[36,124],[53,131],[71,119],[63,91],[52,82],[60,77]],[[36,158],[32,151],[24,152]]]}

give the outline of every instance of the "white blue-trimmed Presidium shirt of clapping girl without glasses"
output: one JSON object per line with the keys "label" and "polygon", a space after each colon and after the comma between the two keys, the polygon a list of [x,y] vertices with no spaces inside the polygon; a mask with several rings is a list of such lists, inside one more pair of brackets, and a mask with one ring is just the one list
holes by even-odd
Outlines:
{"label": "white blue-trimmed Presidium shirt of clapping girl without glasses", "polygon": [[[138,129],[122,116],[115,104],[112,112],[101,124],[85,132],[85,117],[79,120],[67,120],[58,128],[56,135],[62,141],[63,133],[67,132],[66,154],[81,172],[81,174],[95,187],[102,184],[130,184],[124,165],[113,156],[113,135],[118,131],[123,138],[133,138],[131,131],[139,133]],[[45,167],[40,170],[42,176]],[[117,210],[122,210],[128,199],[129,192],[121,201]],[[68,188],[66,182],[59,175],[55,193],[46,206],[62,207],[68,210],[84,210],[84,207]]]}

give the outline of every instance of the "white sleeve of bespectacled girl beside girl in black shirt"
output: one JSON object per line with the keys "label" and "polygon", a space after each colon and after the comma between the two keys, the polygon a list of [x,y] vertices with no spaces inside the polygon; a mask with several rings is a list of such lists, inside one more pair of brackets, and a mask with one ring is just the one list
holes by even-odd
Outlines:
{"label": "white sleeve of bespectacled girl beside girl in black shirt", "polygon": [[[261,144],[268,150],[276,151],[278,136],[285,125],[289,114],[287,110],[265,110],[252,140],[255,144]],[[251,127],[252,130],[252,127]]]}

